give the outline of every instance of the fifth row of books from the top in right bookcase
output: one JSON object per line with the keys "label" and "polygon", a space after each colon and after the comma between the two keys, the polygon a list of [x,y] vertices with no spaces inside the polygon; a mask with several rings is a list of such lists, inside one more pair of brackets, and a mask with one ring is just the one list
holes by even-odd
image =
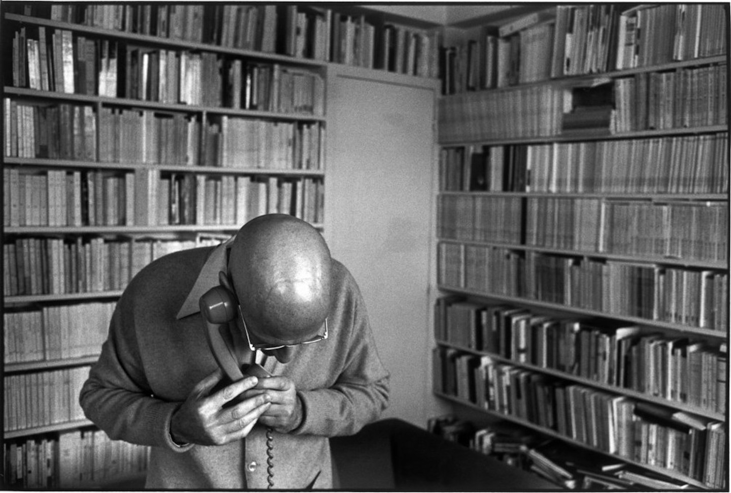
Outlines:
{"label": "fifth row of books from the top in right bookcase", "polygon": [[716,331],[728,323],[724,271],[449,242],[439,244],[437,257],[438,281],[447,288]]}

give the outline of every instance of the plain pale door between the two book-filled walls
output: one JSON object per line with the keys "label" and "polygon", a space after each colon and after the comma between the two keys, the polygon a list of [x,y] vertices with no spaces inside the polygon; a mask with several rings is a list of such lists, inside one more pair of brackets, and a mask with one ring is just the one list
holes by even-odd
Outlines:
{"label": "plain pale door between the two book-filled walls", "polygon": [[356,67],[328,70],[325,237],[360,285],[392,374],[384,417],[425,426],[438,405],[428,298],[437,83]]}

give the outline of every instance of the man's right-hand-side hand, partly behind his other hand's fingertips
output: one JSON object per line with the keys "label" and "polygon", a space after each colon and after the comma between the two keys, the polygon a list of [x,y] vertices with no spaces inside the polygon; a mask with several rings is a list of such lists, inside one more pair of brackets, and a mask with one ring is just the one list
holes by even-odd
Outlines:
{"label": "man's right-hand-side hand, partly behind his other hand's fingertips", "polygon": [[300,426],[302,402],[297,397],[295,383],[287,377],[260,378],[257,386],[244,394],[246,397],[269,396],[271,406],[259,418],[259,423],[280,433],[288,433]]}

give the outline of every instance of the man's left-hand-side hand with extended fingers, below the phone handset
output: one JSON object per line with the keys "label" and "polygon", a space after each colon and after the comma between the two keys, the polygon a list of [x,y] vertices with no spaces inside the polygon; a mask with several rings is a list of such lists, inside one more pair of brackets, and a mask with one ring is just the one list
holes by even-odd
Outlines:
{"label": "man's left-hand-side hand with extended fingers, below the phone handset", "polygon": [[257,385],[257,377],[246,377],[209,395],[222,377],[221,369],[205,377],[173,413],[170,434],[175,443],[223,445],[240,440],[249,434],[257,418],[270,407],[271,396],[260,393],[224,408],[224,404]]}

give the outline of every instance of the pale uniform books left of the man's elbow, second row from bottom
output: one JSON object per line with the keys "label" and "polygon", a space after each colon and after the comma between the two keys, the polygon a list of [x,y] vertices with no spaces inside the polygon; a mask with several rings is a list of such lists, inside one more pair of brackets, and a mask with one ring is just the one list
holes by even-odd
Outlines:
{"label": "pale uniform books left of the man's elbow, second row from bottom", "polygon": [[4,377],[4,430],[80,421],[84,413],[79,392],[90,366],[6,375]]}

